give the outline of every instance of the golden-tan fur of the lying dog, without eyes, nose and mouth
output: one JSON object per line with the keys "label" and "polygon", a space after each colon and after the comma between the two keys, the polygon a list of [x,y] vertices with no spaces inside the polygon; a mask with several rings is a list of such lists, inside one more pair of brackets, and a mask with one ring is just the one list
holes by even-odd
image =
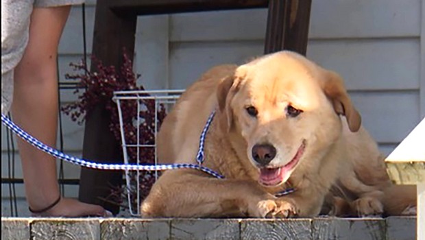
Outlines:
{"label": "golden-tan fur of the lying dog, without eyes, nose and mouth", "polygon": [[[290,115],[289,105],[300,115]],[[248,106],[258,115],[250,116]],[[204,166],[226,178],[193,169],[166,171],[141,206],[144,217],[311,217],[322,206],[322,213],[334,215],[400,214],[415,203],[412,189],[402,191],[413,198],[391,200],[396,191],[383,158],[361,127],[341,77],[297,53],[206,72],[162,123],[160,163],[196,163],[199,136],[214,110]],[[276,147],[276,156],[259,165],[252,151],[264,143]],[[264,185],[260,168],[282,167],[295,156],[299,162],[280,182]],[[296,191],[274,196],[289,187]]]}

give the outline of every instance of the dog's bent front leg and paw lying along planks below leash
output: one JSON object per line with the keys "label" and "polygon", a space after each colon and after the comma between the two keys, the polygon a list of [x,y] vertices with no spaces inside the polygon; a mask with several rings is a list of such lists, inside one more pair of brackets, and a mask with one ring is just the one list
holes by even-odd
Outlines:
{"label": "dog's bent front leg and paw lying along planks below leash", "polygon": [[143,217],[275,217],[280,203],[256,182],[166,171],[141,206]]}

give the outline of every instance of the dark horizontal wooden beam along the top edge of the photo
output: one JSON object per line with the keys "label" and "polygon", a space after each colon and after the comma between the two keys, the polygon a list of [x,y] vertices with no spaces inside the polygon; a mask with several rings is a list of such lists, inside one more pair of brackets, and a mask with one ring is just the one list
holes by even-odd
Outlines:
{"label": "dark horizontal wooden beam along the top edge of the photo", "polygon": [[154,15],[247,8],[267,8],[268,0],[106,0],[119,14]]}

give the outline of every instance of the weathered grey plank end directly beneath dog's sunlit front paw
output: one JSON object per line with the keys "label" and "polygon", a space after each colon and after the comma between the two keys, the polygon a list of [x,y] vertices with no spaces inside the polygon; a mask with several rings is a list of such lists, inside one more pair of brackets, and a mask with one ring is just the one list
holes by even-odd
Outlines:
{"label": "weathered grey plank end directly beneath dog's sunlit front paw", "polygon": [[243,219],[241,239],[311,238],[311,219]]}

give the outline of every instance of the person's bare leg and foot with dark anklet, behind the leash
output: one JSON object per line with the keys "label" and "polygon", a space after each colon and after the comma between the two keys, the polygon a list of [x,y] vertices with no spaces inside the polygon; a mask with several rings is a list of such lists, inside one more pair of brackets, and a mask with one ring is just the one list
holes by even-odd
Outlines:
{"label": "person's bare leg and foot with dark anklet, behind the leash", "polygon": [[[56,145],[58,126],[58,79],[56,56],[70,6],[34,8],[29,25],[29,42],[14,71],[14,121],[40,141]],[[25,193],[33,210],[55,202],[59,196],[56,161],[19,140]],[[76,217],[105,215],[101,206],[63,198],[42,215]]]}

